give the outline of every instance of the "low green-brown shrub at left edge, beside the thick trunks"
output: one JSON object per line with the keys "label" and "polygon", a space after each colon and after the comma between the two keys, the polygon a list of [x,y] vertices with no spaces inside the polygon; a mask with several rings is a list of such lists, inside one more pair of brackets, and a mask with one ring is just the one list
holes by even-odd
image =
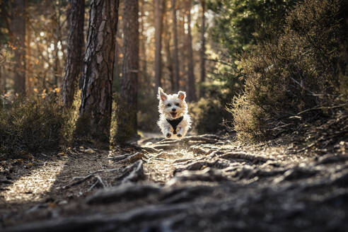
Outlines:
{"label": "low green-brown shrub at left edge, beside the thick trunks", "polygon": [[15,100],[0,108],[0,154],[59,149],[71,138],[72,122],[57,99]]}

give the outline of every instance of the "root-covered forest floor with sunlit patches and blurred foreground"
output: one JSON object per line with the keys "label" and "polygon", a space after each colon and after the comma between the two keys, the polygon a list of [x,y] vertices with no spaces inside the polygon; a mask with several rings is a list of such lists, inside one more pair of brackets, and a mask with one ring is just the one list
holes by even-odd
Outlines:
{"label": "root-covered forest floor with sunlit patches and blurred foreground", "polygon": [[146,137],[0,163],[4,231],[348,231],[347,141]]}

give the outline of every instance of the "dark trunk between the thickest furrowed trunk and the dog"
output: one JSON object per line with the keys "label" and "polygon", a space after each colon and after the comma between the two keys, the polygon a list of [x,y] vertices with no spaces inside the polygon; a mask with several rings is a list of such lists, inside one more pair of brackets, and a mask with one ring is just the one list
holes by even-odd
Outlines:
{"label": "dark trunk between the thickest furrowed trunk and the dog", "polygon": [[117,102],[115,141],[137,137],[137,95],[139,76],[139,1],[124,1],[123,66],[120,100]]}

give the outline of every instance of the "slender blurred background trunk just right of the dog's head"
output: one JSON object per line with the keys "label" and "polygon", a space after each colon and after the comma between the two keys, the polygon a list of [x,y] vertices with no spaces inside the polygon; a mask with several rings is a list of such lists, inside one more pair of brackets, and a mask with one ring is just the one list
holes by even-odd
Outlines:
{"label": "slender blurred background trunk just right of the dog's head", "polygon": [[187,1],[187,47],[188,47],[188,93],[187,100],[195,101],[196,87],[195,87],[195,72],[193,64],[193,51],[192,51],[192,35],[191,35],[191,0]]}

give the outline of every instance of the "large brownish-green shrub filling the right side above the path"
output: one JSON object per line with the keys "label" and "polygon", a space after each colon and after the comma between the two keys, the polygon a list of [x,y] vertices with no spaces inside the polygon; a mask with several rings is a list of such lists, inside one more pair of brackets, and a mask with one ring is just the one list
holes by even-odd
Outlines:
{"label": "large brownish-green shrub filling the right side above the path", "polygon": [[345,1],[304,1],[287,14],[277,39],[243,54],[244,91],[229,108],[240,139],[277,135],[275,127],[293,125],[291,116],[304,110],[302,119],[311,121],[347,105],[344,12]]}

